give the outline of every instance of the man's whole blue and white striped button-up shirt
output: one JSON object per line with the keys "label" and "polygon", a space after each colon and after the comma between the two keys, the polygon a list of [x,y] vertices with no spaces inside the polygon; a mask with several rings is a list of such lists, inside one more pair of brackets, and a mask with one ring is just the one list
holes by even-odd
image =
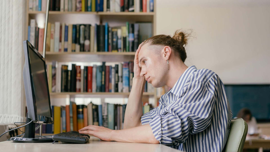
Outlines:
{"label": "man's whole blue and white striped button-up shirt", "polygon": [[232,119],[225,88],[216,73],[188,67],[176,84],[145,113],[141,123],[150,124],[163,145],[182,151],[222,151]]}

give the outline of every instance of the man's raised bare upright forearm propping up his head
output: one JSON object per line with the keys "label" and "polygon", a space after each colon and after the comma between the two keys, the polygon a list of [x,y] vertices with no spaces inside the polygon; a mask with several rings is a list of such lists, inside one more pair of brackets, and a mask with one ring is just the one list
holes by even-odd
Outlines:
{"label": "man's raised bare upright forearm propping up his head", "polygon": [[132,79],[132,88],[124,116],[124,129],[141,125],[141,116],[143,115],[141,99],[143,96],[144,85],[145,80],[143,77]]}

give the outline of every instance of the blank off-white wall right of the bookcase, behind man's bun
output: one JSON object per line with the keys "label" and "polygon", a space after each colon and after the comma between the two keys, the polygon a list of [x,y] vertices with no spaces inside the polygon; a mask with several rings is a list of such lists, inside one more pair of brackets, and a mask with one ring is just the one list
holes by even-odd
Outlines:
{"label": "blank off-white wall right of the bookcase, behind man's bun", "polygon": [[224,84],[270,83],[270,1],[157,0],[157,35],[193,29],[186,65]]}

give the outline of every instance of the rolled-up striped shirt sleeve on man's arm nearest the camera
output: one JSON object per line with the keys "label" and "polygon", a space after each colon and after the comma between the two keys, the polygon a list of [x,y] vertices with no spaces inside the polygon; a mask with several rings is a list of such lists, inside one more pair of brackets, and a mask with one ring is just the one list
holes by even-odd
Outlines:
{"label": "rolled-up striped shirt sleeve on man's arm nearest the camera", "polygon": [[[183,87],[181,97],[166,107],[150,111],[141,120],[149,122],[155,138],[161,144],[173,146],[175,140],[184,143],[188,134],[206,129],[211,122],[215,98],[197,80]],[[160,113],[155,112],[161,110]],[[143,124],[143,123],[142,123]]]}

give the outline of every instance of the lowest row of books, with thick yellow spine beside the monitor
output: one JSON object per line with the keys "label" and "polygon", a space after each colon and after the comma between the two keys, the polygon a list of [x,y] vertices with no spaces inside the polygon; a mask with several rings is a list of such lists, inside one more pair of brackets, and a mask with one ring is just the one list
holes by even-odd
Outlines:
{"label": "lowest row of books, with thick yellow spine beside the monitor", "polygon": [[[143,113],[149,112],[151,105],[143,105]],[[52,106],[53,124],[42,125],[42,133],[58,134],[78,131],[88,125],[103,126],[112,130],[123,129],[126,104],[103,103],[96,105],[76,105],[74,98],[66,106]],[[36,131],[39,133],[39,130]]]}

